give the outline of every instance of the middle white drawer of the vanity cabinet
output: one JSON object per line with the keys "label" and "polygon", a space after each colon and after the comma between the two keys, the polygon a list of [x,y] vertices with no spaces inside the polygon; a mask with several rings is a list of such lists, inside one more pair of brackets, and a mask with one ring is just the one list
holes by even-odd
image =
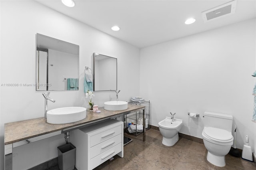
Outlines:
{"label": "middle white drawer of the vanity cabinet", "polygon": [[104,142],[101,142],[100,144],[97,144],[90,148],[90,159],[94,158],[98,154],[101,154],[102,152],[105,152],[106,150],[112,148],[116,144],[119,144],[122,142],[122,134],[118,134],[117,136],[114,136],[113,138],[110,138]]}

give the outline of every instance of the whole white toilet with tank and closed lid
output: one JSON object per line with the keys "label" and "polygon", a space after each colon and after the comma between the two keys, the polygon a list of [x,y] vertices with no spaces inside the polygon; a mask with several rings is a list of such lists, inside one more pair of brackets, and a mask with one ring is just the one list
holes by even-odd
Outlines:
{"label": "whole white toilet with tank and closed lid", "polygon": [[216,166],[225,166],[225,155],[233,144],[233,116],[222,113],[204,112],[202,137],[208,150],[207,160]]}

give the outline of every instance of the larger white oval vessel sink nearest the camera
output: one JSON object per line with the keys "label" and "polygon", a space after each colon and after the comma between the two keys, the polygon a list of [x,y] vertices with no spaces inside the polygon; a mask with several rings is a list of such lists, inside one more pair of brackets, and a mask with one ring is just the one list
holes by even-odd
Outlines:
{"label": "larger white oval vessel sink nearest the camera", "polygon": [[81,121],[86,118],[84,107],[62,107],[47,111],[47,123],[65,124]]}

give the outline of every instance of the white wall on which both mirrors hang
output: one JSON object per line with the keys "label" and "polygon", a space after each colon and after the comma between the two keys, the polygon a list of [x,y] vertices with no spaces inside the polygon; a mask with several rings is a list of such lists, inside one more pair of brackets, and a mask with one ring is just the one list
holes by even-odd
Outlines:
{"label": "white wall on which both mirrors hang", "polygon": [[[94,52],[118,58],[120,101],[139,94],[139,49],[73,20],[34,1],[1,1],[0,4],[1,83],[36,83],[36,33],[80,45],[79,91],[55,91],[48,109],[87,106],[84,97],[84,67],[92,68]],[[133,69],[130,69],[133,65]],[[44,98],[36,87],[1,87],[0,169],[4,169],[4,123],[44,116]],[[115,92],[94,92],[100,107],[115,100]],[[56,146],[64,135],[55,136],[14,149],[13,169],[27,169],[58,156]],[[30,147],[31,146],[31,147]],[[32,150],[28,150],[32,148]]]}

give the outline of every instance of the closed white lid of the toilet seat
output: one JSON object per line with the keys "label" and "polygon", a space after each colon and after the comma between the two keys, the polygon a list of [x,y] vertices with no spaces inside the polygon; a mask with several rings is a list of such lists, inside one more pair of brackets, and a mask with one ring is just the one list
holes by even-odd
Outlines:
{"label": "closed white lid of the toilet seat", "polygon": [[207,127],[204,128],[204,134],[215,141],[227,141],[233,140],[233,136],[230,132],[220,128]]}

